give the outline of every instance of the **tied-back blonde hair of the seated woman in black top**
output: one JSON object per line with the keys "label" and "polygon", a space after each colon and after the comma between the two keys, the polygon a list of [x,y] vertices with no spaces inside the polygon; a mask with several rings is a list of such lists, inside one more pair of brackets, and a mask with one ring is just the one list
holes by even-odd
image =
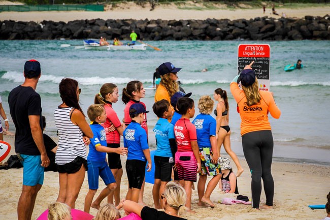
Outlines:
{"label": "tied-back blonde hair of the seated woman in black top", "polygon": [[166,184],[164,197],[166,198],[167,203],[176,210],[179,210],[179,215],[182,215],[185,210],[186,204],[186,191],[184,188],[175,183],[175,182],[168,182]]}

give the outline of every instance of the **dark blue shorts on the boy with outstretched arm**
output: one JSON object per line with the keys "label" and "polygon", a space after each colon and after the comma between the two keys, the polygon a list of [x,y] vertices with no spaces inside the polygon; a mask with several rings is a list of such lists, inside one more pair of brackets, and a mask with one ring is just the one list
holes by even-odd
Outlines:
{"label": "dark blue shorts on the boy with outstretched arm", "polygon": [[87,160],[87,166],[88,186],[90,190],[98,189],[98,176],[101,176],[106,185],[116,182],[106,161],[98,162]]}

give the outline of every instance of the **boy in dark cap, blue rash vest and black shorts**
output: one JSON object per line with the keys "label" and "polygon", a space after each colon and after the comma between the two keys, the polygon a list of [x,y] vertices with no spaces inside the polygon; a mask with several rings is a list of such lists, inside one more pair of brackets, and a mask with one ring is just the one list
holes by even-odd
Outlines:
{"label": "boy in dark cap, blue rash vest and black shorts", "polygon": [[126,200],[138,202],[139,193],[145,176],[146,161],[148,172],[151,170],[150,150],[147,133],[141,128],[144,115],[147,113],[141,103],[129,107],[131,122],[124,131],[124,147],[128,148],[126,173],[128,179],[128,192]]}

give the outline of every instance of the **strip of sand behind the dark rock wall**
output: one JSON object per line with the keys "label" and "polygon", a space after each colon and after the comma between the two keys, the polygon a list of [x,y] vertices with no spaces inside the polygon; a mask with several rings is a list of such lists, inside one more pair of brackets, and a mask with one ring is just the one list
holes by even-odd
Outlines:
{"label": "strip of sand behind the dark rock wall", "polygon": [[[5,1],[0,4],[8,4]],[[304,8],[285,8],[285,6],[276,9],[277,13],[281,15],[285,13],[287,17],[303,18],[306,15],[311,16],[325,16],[330,12],[330,6],[318,6]],[[58,21],[73,21],[84,19],[149,19],[149,20],[187,20],[187,19],[251,19],[255,17],[274,17],[280,18],[279,15],[273,15],[271,6],[267,6],[266,13],[263,14],[262,8],[226,8],[224,5],[216,5],[212,9],[203,5],[198,5],[193,2],[188,2],[184,6],[172,4],[156,6],[153,11],[150,11],[149,4],[142,6],[128,2],[126,4],[119,4],[116,8],[106,7],[104,12],[85,12],[85,11],[44,11],[44,12],[1,12],[0,20],[14,20],[14,21],[35,21],[41,22],[43,20]]]}

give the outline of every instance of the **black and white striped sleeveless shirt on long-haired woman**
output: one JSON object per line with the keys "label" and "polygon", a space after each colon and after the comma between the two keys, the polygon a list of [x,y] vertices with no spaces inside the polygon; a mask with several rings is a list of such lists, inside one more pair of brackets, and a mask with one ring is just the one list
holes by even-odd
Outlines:
{"label": "black and white striped sleeveless shirt on long-haired woman", "polygon": [[87,159],[83,132],[78,125],[71,121],[70,112],[73,109],[72,107],[57,107],[54,111],[54,120],[59,137],[55,156],[55,163],[58,165],[68,164],[77,156]]}

